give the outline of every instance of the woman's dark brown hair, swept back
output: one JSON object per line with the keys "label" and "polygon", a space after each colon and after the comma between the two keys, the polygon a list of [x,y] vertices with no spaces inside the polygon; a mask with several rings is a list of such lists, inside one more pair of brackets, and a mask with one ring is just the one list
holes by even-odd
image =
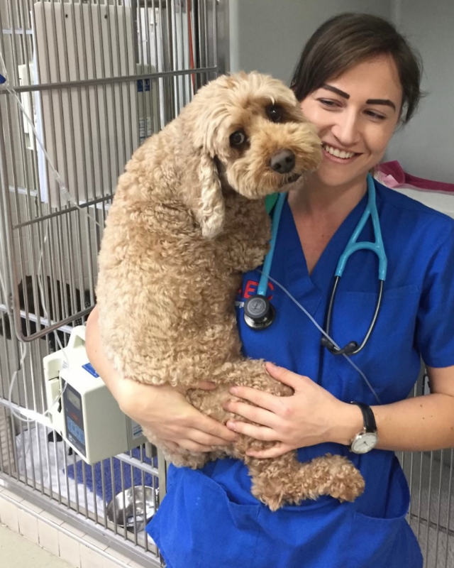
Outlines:
{"label": "woman's dark brown hair, swept back", "polygon": [[391,55],[402,84],[401,121],[406,124],[421,99],[419,53],[392,23],[366,13],[343,13],[323,23],[306,43],[290,87],[299,101],[328,80],[377,55]]}

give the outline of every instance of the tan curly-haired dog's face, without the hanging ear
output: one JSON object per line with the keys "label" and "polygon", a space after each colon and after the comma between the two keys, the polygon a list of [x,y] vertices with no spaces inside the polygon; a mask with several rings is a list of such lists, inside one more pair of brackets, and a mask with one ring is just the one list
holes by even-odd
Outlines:
{"label": "tan curly-haired dog's face, without the hanging ear", "polygon": [[316,128],[281,81],[255,72],[219,77],[200,89],[194,103],[203,109],[196,128],[199,144],[241,195],[256,199],[285,191],[318,168]]}

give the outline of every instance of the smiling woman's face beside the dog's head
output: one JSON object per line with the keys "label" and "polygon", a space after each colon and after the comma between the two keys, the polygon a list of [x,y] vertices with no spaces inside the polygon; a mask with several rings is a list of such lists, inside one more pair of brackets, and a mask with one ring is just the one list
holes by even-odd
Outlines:
{"label": "smiling woman's face beside the dog's head", "polygon": [[384,155],[401,105],[397,66],[388,56],[359,63],[302,100],[323,143],[319,180],[329,186],[364,183]]}

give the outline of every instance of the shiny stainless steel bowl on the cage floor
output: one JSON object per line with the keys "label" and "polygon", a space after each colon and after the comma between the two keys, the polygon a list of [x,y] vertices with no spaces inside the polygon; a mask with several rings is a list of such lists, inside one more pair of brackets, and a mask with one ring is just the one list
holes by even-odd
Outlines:
{"label": "shiny stainless steel bowl on the cage floor", "polygon": [[[145,489],[145,499],[143,490]],[[134,525],[136,530],[143,530],[148,521],[155,514],[155,491],[153,487],[143,487],[137,485],[133,488],[125,489],[124,499],[123,491],[117,493],[115,498],[107,506],[107,518],[112,522],[133,532]],[[135,507],[133,503],[135,500]],[[144,513],[145,501],[145,513]],[[115,507],[114,507],[115,503]]]}

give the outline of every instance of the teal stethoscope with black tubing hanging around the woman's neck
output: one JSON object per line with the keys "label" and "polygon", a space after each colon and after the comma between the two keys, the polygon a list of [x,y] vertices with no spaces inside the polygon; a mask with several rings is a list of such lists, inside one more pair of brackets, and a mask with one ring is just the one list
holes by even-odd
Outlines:
{"label": "teal stethoscope with black tubing hanging around the woman's neck", "polygon": [[[252,329],[266,329],[275,320],[276,310],[275,307],[270,303],[270,300],[267,299],[266,293],[268,288],[268,280],[270,279],[272,258],[275,253],[277,230],[279,229],[282,207],[284,206],[286,197],[286,194],[279,194],[279,197],[275,204],[275,209],[272,217],[270,251],[267,253],[267,256],[265,257],[265,261],[263,263],[263,268],[261,271],[262,275],[260,276],[257,294],[248,298],[248,300],[246,300],[244,304],[244,320],[246,324]],[[372,219],[375,242],[358,242],[358,236],[360,236],[360,233],[369,217]],[[380,290],[378,293],[377,305],[375,306],[375,312],[372,316],[372,321],[370,322],[369,329],[367,330],[367,333],[365,334],[365,337],[360,345],[358,345],[358,342],[351,341],[348,342],[348,344],[346,344],[343,348],[340,348],[333,344],[333,342],[331,342],[331,340],[327,337],[323,336],[321,338],[321,344],[325,346],[329,351],[331,351],[331,353],[334,355],[355,355],[362,349],[364,349],[364,346],[365,344],[367,344],[367,341],[369,340],[370,335],[372,334],[372,331],[375,327],[375,323],[377,322],[377,317],[380,312],[380,306],[382,305],[383,284],[384,280],[386,280],[387,272],[387,256],[384,252],[382,231],[380,229],[380,221],[378,219],[377,203],[375,201],[375,184],[370,174],[367,175],[367,205],[365,212],[362,214],[362,217],[358,222],[355,231],[353,231],[352,236],[350,236],[350,240],[348,241],[347,246],[345,246],[345,250],[341,254],[341,258],[339,258],[338,266],[336,268],[336,272],[334,273],[334,285],[328,304],[325,322],[326,334],[328,336],[331,329],[334,298],[336,297],[336,290],[338,288],[339,280],[343,275],[345,265],[348,261],[348,258],[350,258],[353,253],[364,249],[373,251],[378,256],[378,279],[380,280]]]}

